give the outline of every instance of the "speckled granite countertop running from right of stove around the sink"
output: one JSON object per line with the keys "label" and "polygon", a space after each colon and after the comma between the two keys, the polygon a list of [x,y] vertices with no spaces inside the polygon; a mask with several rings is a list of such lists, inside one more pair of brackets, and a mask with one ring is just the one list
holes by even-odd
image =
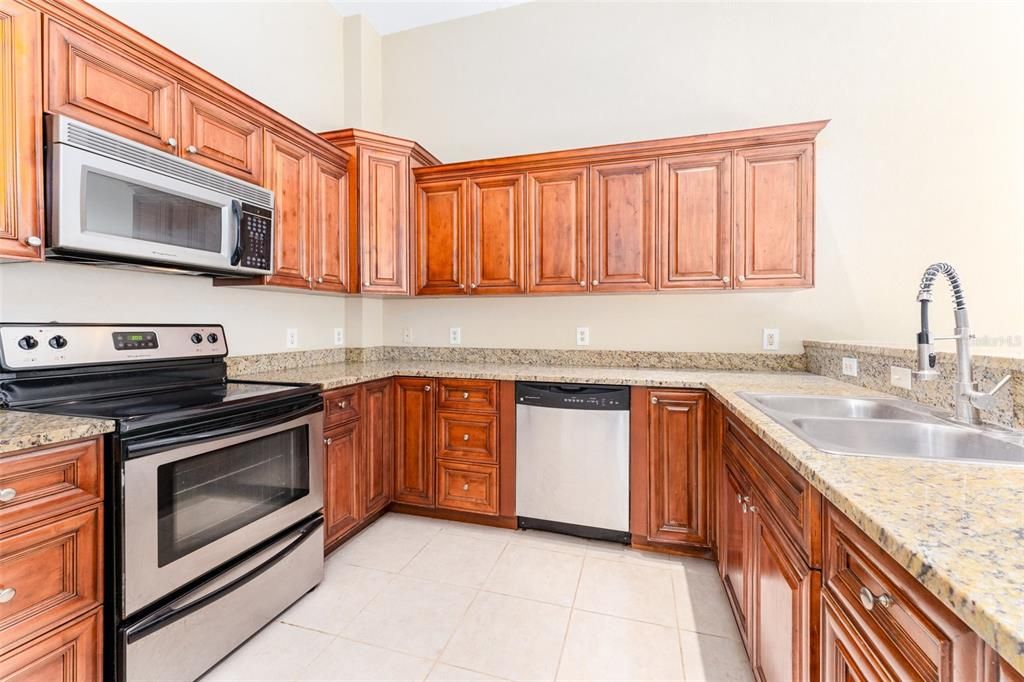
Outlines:
{"label": "speckled granite countertop running from right of stove around the sink", "polygon": [[737,395],[881,393],[802,373],[460,363],[319,365],[238,378],[330,389],[391,376],[705,388],[1024,672],[1024,467],[827,455]]}

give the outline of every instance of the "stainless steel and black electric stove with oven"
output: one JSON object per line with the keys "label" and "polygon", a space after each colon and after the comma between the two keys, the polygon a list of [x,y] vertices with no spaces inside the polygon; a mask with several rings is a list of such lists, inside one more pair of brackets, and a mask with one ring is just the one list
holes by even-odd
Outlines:
{"label": "stainless steel and black electric stove with oven", "polygon": [[217,325],[0,324],[0,404],[116,424],[106,679],[196,679],[323,578],[319,389],[226,353]]}

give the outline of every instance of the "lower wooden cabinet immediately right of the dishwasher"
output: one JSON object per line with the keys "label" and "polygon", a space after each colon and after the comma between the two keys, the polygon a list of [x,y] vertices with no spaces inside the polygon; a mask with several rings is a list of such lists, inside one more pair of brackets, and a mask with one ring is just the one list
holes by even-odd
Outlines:
{"label": "lower wooden cabinet immediately right of the dishwasher", "polygon": [[634,544],[706,554],[707,394],[637,387],[630,403]]}

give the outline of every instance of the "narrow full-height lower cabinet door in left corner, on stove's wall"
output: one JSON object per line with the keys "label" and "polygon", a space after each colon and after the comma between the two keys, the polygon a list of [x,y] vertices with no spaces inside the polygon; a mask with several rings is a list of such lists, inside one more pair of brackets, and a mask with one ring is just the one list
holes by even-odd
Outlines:
{"label": "narrow full-height lower cabinet door in left corner, on stove's wall", "polygon": [[394,437],[394,395],[391,380],[375,381],[365,388],[364,436],[366,455],[359,476],[364,485],[362,500],[366,517],[391,501],[391,461]]}

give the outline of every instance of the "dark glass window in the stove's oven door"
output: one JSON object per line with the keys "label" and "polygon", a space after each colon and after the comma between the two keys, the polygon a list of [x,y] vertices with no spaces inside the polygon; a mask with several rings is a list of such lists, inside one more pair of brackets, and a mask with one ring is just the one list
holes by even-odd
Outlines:
{"label": "dark glass window in the stove's oven door", "polygon": [[157,469],[158,563],[165,566],[309,495],[309,427]]}

